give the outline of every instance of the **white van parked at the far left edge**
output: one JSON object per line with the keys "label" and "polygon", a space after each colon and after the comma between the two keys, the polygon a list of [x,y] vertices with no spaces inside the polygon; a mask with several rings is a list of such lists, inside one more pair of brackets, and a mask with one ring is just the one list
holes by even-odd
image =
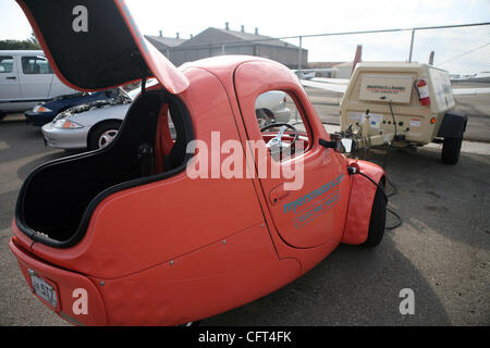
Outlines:
{"label": "white van parked at the far left edge", "polygon": [[54,75],[42,51],[0,51],[0,119],[75,92]]}

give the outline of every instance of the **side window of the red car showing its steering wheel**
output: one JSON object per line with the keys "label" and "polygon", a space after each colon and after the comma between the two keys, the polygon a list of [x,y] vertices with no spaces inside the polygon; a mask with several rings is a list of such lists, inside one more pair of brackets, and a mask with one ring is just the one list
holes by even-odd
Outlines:
{"label": "side window of the red car showing its steering wheel", "polygon": [[257,97],[257,125],[275,161],[284,161],[309,150],[311,132],[302,110],[295,99],[282,90],[270,90]]}

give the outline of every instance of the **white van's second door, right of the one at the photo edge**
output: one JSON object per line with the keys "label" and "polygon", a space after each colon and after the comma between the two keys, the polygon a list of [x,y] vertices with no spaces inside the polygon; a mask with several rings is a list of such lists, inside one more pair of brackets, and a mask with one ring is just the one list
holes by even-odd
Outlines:
{"label": "white van's second door, right of the one at the photo edge", "polygon": [[53,72],[48,60],[42,55],[21,55],[20,85],[25,101],[42,101],[48,99]]}

